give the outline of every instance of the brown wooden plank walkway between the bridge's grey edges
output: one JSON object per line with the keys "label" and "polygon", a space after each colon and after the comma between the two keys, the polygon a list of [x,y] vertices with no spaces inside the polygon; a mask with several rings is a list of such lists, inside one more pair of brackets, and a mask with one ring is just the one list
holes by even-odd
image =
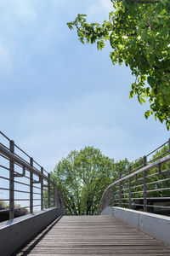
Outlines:
{"label": "brown wooden plank walkway between the bridge's grey edges", "polygon": [[65,216],[14,255],[170,255],[170,247],[116,218]]}

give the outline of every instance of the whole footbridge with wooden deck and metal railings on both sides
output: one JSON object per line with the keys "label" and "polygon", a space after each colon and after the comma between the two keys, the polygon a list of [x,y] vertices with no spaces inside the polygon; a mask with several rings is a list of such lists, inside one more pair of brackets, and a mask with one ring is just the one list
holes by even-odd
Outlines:
{"label": "whole footbridge with wooden deck and metal railings on both sides", "polygon": [[0,255],[170,255],[170,140],[66,216],[55,178],[0,131]]}

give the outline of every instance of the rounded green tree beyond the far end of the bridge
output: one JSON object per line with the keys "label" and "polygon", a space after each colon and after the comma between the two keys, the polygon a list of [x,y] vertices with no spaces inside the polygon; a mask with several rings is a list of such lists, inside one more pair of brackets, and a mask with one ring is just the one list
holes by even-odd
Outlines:
{"label": "rounded green tree beyond the far end of the bridge", "polygon": [[94,215],[101,195],[111,183],[114,160],[98,148],[71,151],[54,168],[54,177],[65,198],[67,214]]}

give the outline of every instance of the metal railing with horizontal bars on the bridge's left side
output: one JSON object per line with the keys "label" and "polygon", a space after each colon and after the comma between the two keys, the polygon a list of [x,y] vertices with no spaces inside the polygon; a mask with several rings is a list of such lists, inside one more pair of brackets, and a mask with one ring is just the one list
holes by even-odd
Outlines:
{"label": "metal railing with horizontal bars on the bridge's left side", "polygon": [[53,177],[2,131],[0,193],[0,214],[9,212],[9,219],[13,219],[14,213],[21,209],[29,209],[27,212],[32,213],[37,209],[64,207],[63,196]]}

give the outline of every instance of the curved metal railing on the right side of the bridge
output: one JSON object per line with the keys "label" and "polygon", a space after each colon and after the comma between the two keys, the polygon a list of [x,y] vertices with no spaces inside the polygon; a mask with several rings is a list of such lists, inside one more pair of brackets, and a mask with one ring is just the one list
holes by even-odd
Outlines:
{"label": "curved metal railing on the right side of the bridge", "polygon": [[170,216],[170,139],[150,154],[118,173],[99,202],[105,207],[125,207]]}

